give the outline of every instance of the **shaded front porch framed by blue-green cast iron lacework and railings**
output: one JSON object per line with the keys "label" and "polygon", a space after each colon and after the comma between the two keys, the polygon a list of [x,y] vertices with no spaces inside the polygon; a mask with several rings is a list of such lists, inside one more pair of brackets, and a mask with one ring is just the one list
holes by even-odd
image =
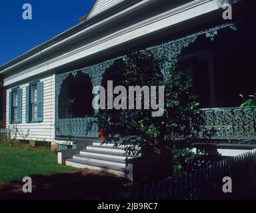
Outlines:
{"label": "shaded front porch framed by blue-green cast iron lacework and railings", "polygon": [[[239,27],[243,29],[241,32]],[[255,91],[252,83],[255,77],[251,66],[253,59],[249,58],[249,53],[244,53],[243,56],[239,54],[239,48],[245,48],[249,42],[241,41],[239,48],[233,47],[238,45],[238,38],[247,35],[246,27],[241,23],[225,23],[141,50],[155,58],[165,55],[169,59],[170,63],[161,67],[163,78],[169,77],[167,67],[185,71],[187,79],[192,80],[195,94],[199,95],[205,126],[215,130],[212,138],[255,138],[256,108],[239,107],[243,102],[239,94],[251,95]],[[255,31],[253,33],[251,37],[255,35]],[[221,52],[223,43],[228,48],[232,47],[228,53]],[[117,75],[117,71],[125,57],[115,57],[103,63],[56,75],[55,138],[97,138],[97,110],[91,107],[91,91],[95,86],[105,85],[109,79],[117,80],[120,75]],[[240,67],[241,65],[245,67]],[[70,108],[67,104],[70,99],[75,99],[78,104]],[[202,132],[198,132],[198,137],[203,137]]]}

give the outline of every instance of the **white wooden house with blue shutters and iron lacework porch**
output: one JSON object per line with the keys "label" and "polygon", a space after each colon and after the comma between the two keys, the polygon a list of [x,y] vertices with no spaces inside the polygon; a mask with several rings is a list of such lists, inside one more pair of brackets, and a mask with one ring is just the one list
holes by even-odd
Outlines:
{"label": "white wooden house with blue shutters and iron lacework porch", "polygon": [[[225,3],[232,5],[232,20],[223,19]],[[246,51],[255,45],[255,27],[246,21],[250,4],[253,1],[97,0],[85,21],[0,67],[6,126],[17,125],[24,133],[29,129],[27,140],[61,143],[70,134],[76,141],[97,138],[91,89],[113,77],[127,49],[141,49],[167,56],[167,66],[178,64],[193,79],[195,93],[208,108],[208,124],[223,122],[217,137],[254,137],[253,109],[231,108],[239,107],[238,94],[255,89],[248,86],[255,77]],[[165,68],[163,75],[168,76]],[[69,117],[67,100],[74,97],[79,105]],[[239,116],[240,121],[234,119]],[[229,123],[229,118],[237,123]],[[88,148],[103,152],[99,144],[93,145]]]}

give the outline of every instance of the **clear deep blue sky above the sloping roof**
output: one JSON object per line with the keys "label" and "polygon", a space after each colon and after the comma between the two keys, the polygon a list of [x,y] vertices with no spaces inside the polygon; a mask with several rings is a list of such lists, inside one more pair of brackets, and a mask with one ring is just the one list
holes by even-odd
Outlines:
{"label": "clear deep blue sky above the sloping roof", "polygon": [[[1,0],[0,65],[79,23],[94,0]],[[23,4],[32,5],[32,20],[23,20]]]}

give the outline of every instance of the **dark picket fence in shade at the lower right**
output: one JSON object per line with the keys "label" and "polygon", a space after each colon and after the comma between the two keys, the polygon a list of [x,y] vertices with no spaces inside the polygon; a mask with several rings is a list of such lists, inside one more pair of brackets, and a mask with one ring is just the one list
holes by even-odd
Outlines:
{"label": "dark picket fence in shade at the lower right", "polygon": [[[231,177],[232,192],[223,192],[223,178]],[[109,196],[114,200],[256,199],[256,152],[226,158],[159,182]]]}

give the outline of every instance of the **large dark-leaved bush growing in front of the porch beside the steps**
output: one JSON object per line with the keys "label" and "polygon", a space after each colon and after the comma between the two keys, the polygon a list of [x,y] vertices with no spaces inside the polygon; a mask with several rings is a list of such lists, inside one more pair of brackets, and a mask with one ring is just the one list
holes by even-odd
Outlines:
{"label": "large dark-leaved bush growing in front of the porch beside the steps", "polygon": [[[195,137],[202,120],[197,97],[184,73],[170,68],[170,77],[163,79],[160,69],[163,61],[166,62],[165,59],[154,59],[150,54],[133,52],[129,53],[123,69],[123,86],[127,91],[129,86],[165,87],[163,116],[153,117],[152,111],[145,109],[101,110],[99,124],[105,134],[119,134],[118,140],[122,141],[120,145],[125,145],[126,154],[142,154],[147,159],[148,168],[154,164],[153,170],[167,169],[177,174],[189,170],[195,154],[191,150],[177,149],[175,138]],[[141,103],[144,103],[143,97]]]}

